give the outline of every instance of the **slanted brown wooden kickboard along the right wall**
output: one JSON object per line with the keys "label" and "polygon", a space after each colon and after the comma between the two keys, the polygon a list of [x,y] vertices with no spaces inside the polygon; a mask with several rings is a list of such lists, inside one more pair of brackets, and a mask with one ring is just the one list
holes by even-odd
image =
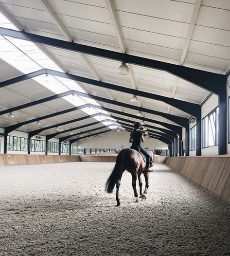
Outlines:
{"label": "slanted brown wooden kickboard along the right wall", "polygon": [[165,163],[230,204],[230,155],[168,157]]}

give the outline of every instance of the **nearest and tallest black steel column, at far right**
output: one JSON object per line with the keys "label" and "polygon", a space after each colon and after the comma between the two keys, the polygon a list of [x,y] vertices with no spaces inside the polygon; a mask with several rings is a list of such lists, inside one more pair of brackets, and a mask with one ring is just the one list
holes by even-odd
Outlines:
{"label": "nearest and tallest black steel column, at far right", "polygon": [[227,89],[225,78],[220,77],[219,89],[219,147],[218,154],[227,154]]}

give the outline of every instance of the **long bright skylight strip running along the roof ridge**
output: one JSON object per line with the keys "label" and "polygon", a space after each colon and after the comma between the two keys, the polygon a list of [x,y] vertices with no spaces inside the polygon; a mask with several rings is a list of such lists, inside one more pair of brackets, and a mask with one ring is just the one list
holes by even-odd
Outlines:
{"label": "long bright skylight strip running along the roof ridge", "polygon": [[[0,14],[0,26],[18,30],[14,24],[12,24],[2,14]],[[0,58],[25,74],[41,69],[52,69],[63,72],[63,70],[59,68],[52,59],[45,55],[33,42],[13,37],[0,36]],[[56,94],[73,90],[86,93],[86,91],[84,91],[78,83],[70,79],[46,74],[36,76],[32,79]],[[100,106],[93,99],[79,97],[77,95],[68,95],[63,98],[77,107],[86,103]],[[98,121],[108,119],[107,117],[103,116],[103,113],[108,114],[108,112],[105,110],[94,109],[92,107],[82,110],[89,115],[102,113],[102,115],[94,117]],[[103,122],[103,124],[111,129],[117,128],[114,125],[111,126],[111,122]]]}

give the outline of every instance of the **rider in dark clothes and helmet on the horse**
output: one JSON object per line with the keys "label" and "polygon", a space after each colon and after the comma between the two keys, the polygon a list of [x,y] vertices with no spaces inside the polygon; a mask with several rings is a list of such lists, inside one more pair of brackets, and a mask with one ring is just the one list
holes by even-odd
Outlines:
{"label": "rider in dark clothes and helmet on the horse", "polygon": [[141,145],[141,142],[144,142],[143,133],[140,130],[141,127],[142,127],[142,124],[139,123],[139,122],[136,122],[134,124],[134,130],[130,133],[129,142],[130,143],[132,142],[132,146],[131,147],[134,147],[134,148],[139,147],[141,152],[146,156],[146,167],[145,167],[145,170],[151,172],[152,170],[149,168],[150,154]]}

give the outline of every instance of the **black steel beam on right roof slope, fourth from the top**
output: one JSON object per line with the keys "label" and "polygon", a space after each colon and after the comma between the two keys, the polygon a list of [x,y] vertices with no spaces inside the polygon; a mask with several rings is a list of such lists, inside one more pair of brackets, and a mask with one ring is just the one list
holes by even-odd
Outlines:
{"label": "black steel beam on right roof slope, fourth from the top", "polygon": [[128,113],[125,113],[125,112],[122,112],[122,111],[112,110],[112,109],[108,109],[108,108],[101,107],[101,106],[97,106],[97,105],[93,105],[93,104],[90,104],[90,106],[93,107],[93,108],[95,108],[95,109],[106,110],[106,111],[108,111],[108,112],[112,112],[112,113],[115,113],[115,114],[125,115],[125,116],[128,116],[128,117],[135,118],[135,119],[139,119],[139,120],[143,120],[143,121],[146,121],[146,122],[159,124],[159,125],[161,125],[161,126],[163,126],[163,127],[165,127],[165,128],[168,128],[168,129],[170,129],[170,130],[173,130],[173,131],[176,132],[176,133],[179,133],[179,132],[182,130],[182,127],[175,126],[175,125],[171,125],[171,124],[167,124],[167,123],[160,122],[160,121],[156,121],[156,120],[152,120],[152,119],[150,119],[150,118],[140,117],[140,116],[128,114]]}

